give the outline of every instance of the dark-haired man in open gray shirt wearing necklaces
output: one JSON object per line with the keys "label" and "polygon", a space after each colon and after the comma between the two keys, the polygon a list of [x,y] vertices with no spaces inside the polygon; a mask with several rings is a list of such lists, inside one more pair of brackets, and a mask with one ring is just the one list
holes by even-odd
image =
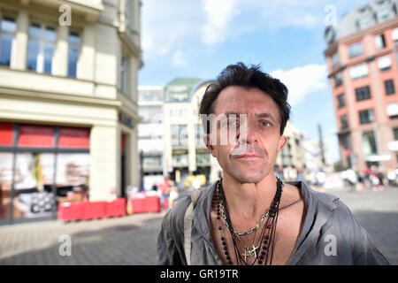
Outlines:
{"label": "dark-haired man in open gray shirt wearing necklaces", "polygon": [[275,176],[290,112],[279,80],[258,66],[229,65],[206,89],[200,112],[223,178],[165,215],[159,264],[388,264],[337,197]]}

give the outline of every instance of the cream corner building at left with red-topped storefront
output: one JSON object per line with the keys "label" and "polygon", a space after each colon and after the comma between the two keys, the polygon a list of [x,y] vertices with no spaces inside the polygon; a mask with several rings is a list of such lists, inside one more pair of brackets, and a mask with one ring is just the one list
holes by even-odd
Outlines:
{"label": "cream corner building at left with red-topped storefront", "polygon": [[139,0],[0,2],[2,220],[139,186],[140,10]]}

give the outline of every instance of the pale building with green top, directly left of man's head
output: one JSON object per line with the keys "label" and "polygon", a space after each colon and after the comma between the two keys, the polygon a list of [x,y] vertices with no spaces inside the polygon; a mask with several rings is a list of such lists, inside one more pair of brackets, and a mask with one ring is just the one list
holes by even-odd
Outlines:
{"label": "pale building with green top, directly left of man's head", "polygon": [[177,78],[165,86],[165,170],[179,187],[192,175],[205,175],[206,182],[221,174],[217,159],[203,142],[199,105],[211,80]]}

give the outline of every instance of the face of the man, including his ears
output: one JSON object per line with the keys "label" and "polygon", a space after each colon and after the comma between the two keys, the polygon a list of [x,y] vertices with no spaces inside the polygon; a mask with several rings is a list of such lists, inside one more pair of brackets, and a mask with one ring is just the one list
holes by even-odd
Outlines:
{"label": "face of the man, including his ears", "polygon": [[213,120],[211,131],[217,132],[205,136],[224,174],[241,183],[263,180],[273,171],[276,157],[287,143],[287,138],[280,135],[278,104],[258,88],[231,86],[220,92],[213,110],[216,117],[229,117]]}

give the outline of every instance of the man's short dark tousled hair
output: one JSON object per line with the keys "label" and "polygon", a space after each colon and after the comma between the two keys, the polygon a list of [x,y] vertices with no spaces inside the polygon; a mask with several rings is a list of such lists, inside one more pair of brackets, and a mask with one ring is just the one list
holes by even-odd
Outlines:
{"label": "man's short dark tousled hair", "polygon": [[[210,84],[204,92],[200,106],[200,114],[214,113],[214,102],[219,93],[226,87],[239,86],[243,88],[259,88],[264,91],[279,106],[280,134],[283,134],[290,115],[290,105],[287,103],[287,87],[278,79],[272,78],[268,73],[260,70],[260,65],[247,67],[239,62],[228,65],[219,73],[215,83]],[[203,120],[203,123],[206,121]],[[210,134],[210,126],[203,125]]]}

